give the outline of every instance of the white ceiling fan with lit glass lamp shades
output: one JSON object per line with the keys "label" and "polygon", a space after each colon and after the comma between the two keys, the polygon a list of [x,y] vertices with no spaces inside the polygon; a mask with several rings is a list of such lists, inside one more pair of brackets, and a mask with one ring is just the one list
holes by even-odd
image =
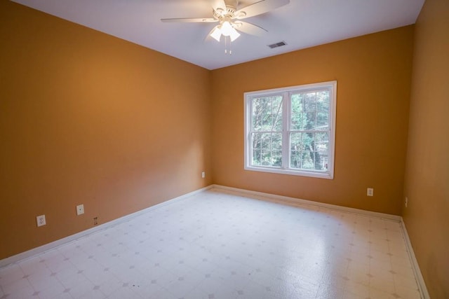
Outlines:
{"label": "white ceiling fan with lit glass lamp shades", "polygon": [[[230,4],[232,2],[233,4]],[[290,0],[260,0],[254,4],[250,4],[243,8],[238,8],[238,0],[210,0],[212,4],[213,18],[172,18],[161,19],[162,22],[218,22],[219,24],[210,30],[208,36],[220,41],[221,36],[229,37],[230,41],[237,39],[240,32],[261,36],[267,33],[267,30],[251,24],[243,22],[242,19],[254,17],[255,15],[262,15],[276,8],[290,3]],[[206,36],[206,38],[208,37]]]}

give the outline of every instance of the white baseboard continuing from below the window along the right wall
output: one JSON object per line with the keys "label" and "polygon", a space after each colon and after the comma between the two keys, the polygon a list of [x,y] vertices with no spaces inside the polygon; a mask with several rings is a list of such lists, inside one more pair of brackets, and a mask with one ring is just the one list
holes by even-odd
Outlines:
{"label": "white baseboard continuing from below the window along the right wall", "polygon": [[298,207],[304,206],[304,205],[313,206],[313,207],[323,207],[326,209],[333,209],[333,210],[337,210],[337,211],[347,211],[347,212],[351,212],[354,214],[382,218],[382,219],[386,219],[386,220],[399,222],[399,223],[401,223],[401,228],[402,228],[401,230],[402,230],[403,237],[406,240],[407,251],[408,251],[409,258],[410,258],[410,262],[413,267],[413,272],[415,273],[415,279],[417,281],[418,288],[420,288],[421,298],[430,299],[429,292],[427,291],[426,284],[424,283],[424,278],[422,277],[422,274],[421,274],[420,266],[417,263],[415,253],[413,252],[412,244],[410,243],[410,238],[408,237],[406,225],[401,216],[377,213],[374,211],[366,211],[366,210],[362,210],[362,209],[353,209],[353,208],[349,208],[349,207],[340,207],[335,204],[324,204],[322,202],[301,200],[301,199],[295,198],[295,197],[274,195],[274,194],[269,194],[269,193],[262,193],[262,192],[257,192],[257,191],[250,191],[250,190],[227,187],[227,186],[220,186],[220,185],[213,185],[211,190],[217,190],[217,191],[232,193],[232,194],[236,194],[236,195],[243,195],[243,196],[255,198],[257,200],[267,200],[270,202],[278,202],[278,203],[289,204],[289,205],[298,206]]}

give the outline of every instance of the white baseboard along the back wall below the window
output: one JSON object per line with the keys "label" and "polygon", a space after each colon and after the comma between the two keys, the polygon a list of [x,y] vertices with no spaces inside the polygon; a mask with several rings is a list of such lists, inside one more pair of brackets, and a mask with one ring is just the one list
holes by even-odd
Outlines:
{"label": "white baseboard along the back wall below the window", "polygon": [[250,191],[250,190],[244,190],[239,188],[233,188],[233,187],[227,187],[227,186],[221,186],[221,185],[213,185],[212,189],[218,189],[218,190],[225,190],[228,192],[234,192],[234,193],[240,193],[240,194],[246,194],[247,196],[250,195],[252,197],[255,197],[256,199],[261,200],[269,200],[272,202],[281,202],[286,203],[290,205],[307,205],[307,206],[314,206],[314,207],[322,207],[326,209],[334,209],[337,211],[348,211],[354,214],[359,215],[365,215],[370,217],[376,217],[376,218],[382,218],[382,219],[388,219],[392,221],[401,222],[402,217],[397,215],[391,215],[391,214],[384,214],[384,213],[378,213],[375,211],[366,211],[363,209],[354,209],[349,207],[341,207],[337,206],[335,204],[325,204],[323,202],[313,202],[311,200],[301,200],[299,198],[295,197],[288,197],[288,196],[282,196],[282,195],[274,195],[269,193],[263,193],[263,192],[257,192],[257,191]]}

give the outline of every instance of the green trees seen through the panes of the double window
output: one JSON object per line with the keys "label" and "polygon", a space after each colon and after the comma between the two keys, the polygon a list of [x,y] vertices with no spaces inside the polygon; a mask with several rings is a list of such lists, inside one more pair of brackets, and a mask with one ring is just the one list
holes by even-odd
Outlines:
{"label": "green trees seen through the panes of the double window", "polygon": [[[290,168],[327,170],[329,106],[328,90],[290,96]],[[251,109],[253,165],[281,167],[282,95],[255,98]]]}

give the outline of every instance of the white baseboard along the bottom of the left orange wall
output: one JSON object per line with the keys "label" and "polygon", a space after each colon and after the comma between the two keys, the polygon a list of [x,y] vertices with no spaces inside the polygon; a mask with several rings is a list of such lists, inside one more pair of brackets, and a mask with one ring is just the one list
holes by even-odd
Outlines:
{"label": "white baseboard along the bottom of the left orange wall", "polygon": [[49,251],[49,250],[58,248],[59,246],[62,246],[62,245],[67,244],[69,242],[75,241],[76,239],[80,239],[81,237],[86,237],[87,235],[91,235],[94,232],[98,232],[99,230],[105,230],[105,229],[110,228],[110,227],[112,227],[114,225],[118,225],[120,223],[129,221],[130,219],[135,218],[136,216],[139,216],[141,214],[147,213],[148,211],[152,211],[154,209],[160,209],[161,207],[165,207],[168,204],[173,204],[174,202],[177,202],[179,200],[183,200],[186,197],[195,195],[197,193],[201,193],[201,192],[203,192],[205,190],[208,190],[210,188],[212,188],[212,186],[207,186],[205,188],[201,188],[199,190],[195,190],[195,191],[192,191],[190,193],[186,193],[184,195],[180,195],[180,196],[175,197],[175,198],[173,198],[171,200],[167,200],[166,202],[161,202],[160,204],[155,204],[152,207],[148,207],[146,209],[142,209],[140,211],[136,211],[133,214],[128,214],[126,216],[123,216],[123,217],[120,217],[120,218],[116,218],[113,221],[109,221],[107,223],[102,223],[102,224],[97,225],[97,226],[95,226],[93,228],[89,228],[87,230],[83,230],[82,232],[78,232],[78,233],[76,233],[74,235],[69,235],[68,237],[64,237],[62,239],[58,239],[58,240],[56,240],[54,242],[51,242],[51,243],[48,243],[48,244],[36,247],[34,249],[30,249],[30,250],[22,252],[22,253],[18,253],[18,254],[14,255],[14,256],[9,256],[8,258],[4,258],[4,259],[0,260],[0,267],[6,267],[7,265],[11,265],[13,263],[16,263],[19,260],[24,260],[26,258],[31,258],[32,256],[39,255],[39,254],[41,254],[41,253],[43,253],[45,251]]}

